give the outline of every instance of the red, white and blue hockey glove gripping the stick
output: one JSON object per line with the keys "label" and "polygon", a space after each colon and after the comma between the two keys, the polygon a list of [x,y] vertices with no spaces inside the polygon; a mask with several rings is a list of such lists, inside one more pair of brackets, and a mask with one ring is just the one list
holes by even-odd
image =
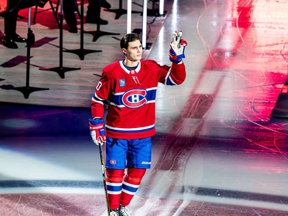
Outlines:
{"label": "red, white and blue hockey glove gripping the stick", "polygon": [[106,142],[105,122],[101,119],[89,119],[90,134],[94,143],[103,145]]}

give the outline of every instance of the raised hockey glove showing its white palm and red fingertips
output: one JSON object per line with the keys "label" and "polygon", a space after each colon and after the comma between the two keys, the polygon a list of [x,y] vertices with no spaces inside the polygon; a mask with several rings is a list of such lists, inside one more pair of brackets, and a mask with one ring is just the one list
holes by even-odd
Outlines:
{"label": "raised hockey glove showing its white palm and red fingertips", "polygon": [[187,46],[187,42],[182,37],[182,31],[173,32],[172,34],[172,41],[170,43],[170,50],[169,50],[169,60],[171,62],[179,63],[182,58],[185,58],[184,50],[185,46]]}

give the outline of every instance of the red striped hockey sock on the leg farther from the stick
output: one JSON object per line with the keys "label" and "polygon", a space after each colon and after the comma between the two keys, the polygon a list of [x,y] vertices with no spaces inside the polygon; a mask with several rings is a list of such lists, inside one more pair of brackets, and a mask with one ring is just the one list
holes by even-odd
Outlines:
{"label": "red striped hockey sock on the leg farther from the stick", "polygon": [[127,175],[124,177],[120,203],[128,206],[136,193],[146,169],[127,168]]}

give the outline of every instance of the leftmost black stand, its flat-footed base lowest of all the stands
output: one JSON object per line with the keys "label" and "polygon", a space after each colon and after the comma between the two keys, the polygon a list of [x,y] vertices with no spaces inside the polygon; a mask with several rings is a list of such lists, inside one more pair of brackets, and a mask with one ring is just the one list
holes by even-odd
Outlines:
{"label": "leftmost black stand, its flat-footed base lowest of all the stands", "polygon": [[24,98],[29,98],[30,93],[34,91],[49,90],[48,88],[37,88],[29,86],[29,77],[30,77],[30,48],[34,46],[35,36],[30,29],[31,26],[31,7],[29,7],[29,17],[28,17],[28,34],[27,34],[27,64],[26,64],[26,86],[23,87],[12,87],[7,89],[12,89],[16,91],[21,91],[24,95]]}

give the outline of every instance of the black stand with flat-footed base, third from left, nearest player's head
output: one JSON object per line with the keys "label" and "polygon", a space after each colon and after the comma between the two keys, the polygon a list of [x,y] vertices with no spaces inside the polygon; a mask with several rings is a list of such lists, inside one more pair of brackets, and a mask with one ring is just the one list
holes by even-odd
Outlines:
{"label": "black stand with flat-footed base, third from left, nearest player's head", "polygon": [[84,14],[84,0],[81,0],[81,14],[80,14],[80,21],[81,21],[81,26],[80,26],[80,49],[74,49],[74,50],[64,50],[64,52],[69,52],[69,53],[74,53],[80,57],[81,60],[84,60],[84,56],[89,53],[96,53],[96,52],[102,52],[102,50],[90,50],[90,49],[84,49],[83,46],[83,28],[84,28],[84,19],[83,19],[83,14]]}

